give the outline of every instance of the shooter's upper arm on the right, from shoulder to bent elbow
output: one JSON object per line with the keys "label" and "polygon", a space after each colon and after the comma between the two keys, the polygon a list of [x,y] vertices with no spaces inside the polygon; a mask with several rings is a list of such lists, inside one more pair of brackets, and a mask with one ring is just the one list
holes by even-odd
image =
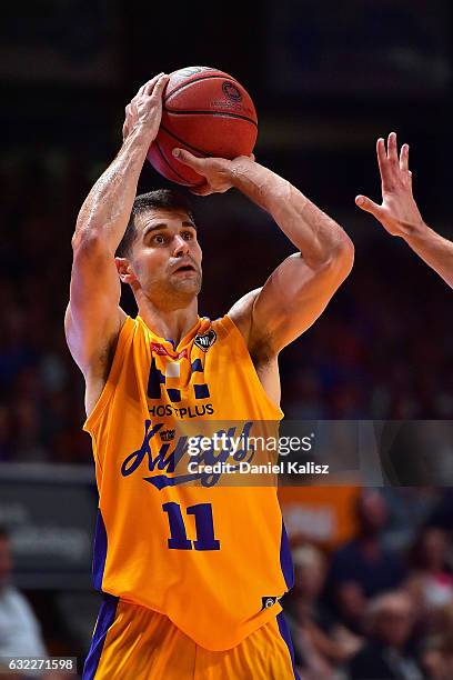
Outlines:
{"label": "shooter's upper arm on the right, from shoulder to bent elbow", "polygon": [[249,351],[278,354],[321,316],[348,277],[353,250],[345,247],[316,268],[301,253],[286,258],[255,296],[250,311]]}

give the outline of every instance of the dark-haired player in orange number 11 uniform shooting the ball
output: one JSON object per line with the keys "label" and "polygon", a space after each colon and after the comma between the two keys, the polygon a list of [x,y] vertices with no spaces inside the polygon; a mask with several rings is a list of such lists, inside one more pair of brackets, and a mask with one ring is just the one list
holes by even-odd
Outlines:
{"label": "dark-haired player in orange number 11 uniform shooting the ball", "polygon": [[[179,151],[205,178],[200,193],[238,188],[296,249],[226,316],[200,318],[190,208],[169,190],[134,198],[167,81],[153,78],[127,107],[123,144],[72,239],[66,332],[85,379],[99,489],[93,572],[104,593],[83,678],[284,680],[296,677],[279,603],[292,566],[276,490],[189,483],[174,466],[187,443],[175,432],[193,419],[282,418],[279,352],[323,312],[353,246],[252,158]],[[133,291],[135,319],[119,307],[120,281]]]}

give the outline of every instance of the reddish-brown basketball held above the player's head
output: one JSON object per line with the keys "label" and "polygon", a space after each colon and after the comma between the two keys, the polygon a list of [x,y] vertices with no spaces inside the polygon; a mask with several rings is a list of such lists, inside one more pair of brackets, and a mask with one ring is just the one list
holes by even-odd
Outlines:
{"label": "reddish-brown basketball held above the player's head", "polygon": [[252,153],[256,111],[232,76],[209,67],[179,69],[170,73],[162,103],[161,126],[148,160],[167,179],[188,187],[204,183],[204,178],[172,156],[175,147],[199,157],[230,160]]}

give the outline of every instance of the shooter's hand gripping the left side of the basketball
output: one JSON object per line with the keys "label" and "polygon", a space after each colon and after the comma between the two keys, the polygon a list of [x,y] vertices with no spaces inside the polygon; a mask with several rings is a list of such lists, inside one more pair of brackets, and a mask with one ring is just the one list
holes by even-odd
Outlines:
{"label": "shooter's hand gripping the left side of the basketball", "polygon": [[159,73],[145,82],[125,107],[123,141],[135,130],[141,130],[151,144],[159,132],[162,118],[162,92],[170,76]]}

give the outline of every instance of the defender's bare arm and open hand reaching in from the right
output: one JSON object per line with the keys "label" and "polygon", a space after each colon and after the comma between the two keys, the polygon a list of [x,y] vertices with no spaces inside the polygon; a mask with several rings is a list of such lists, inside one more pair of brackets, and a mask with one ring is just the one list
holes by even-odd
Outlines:
{"label": "defender's bare arm and open hand reaching in from the right", "polygon": [[424,223],[412,194],[409,146],[402,146],[399,158],[395,132],[389,134],[386,149],[385,141],[382,138],[378,140],[378,163],[382,204],[364,196],[358,196],[355,203],[374,214],[389,233],[404,239],[453,288],[453,243]]}

